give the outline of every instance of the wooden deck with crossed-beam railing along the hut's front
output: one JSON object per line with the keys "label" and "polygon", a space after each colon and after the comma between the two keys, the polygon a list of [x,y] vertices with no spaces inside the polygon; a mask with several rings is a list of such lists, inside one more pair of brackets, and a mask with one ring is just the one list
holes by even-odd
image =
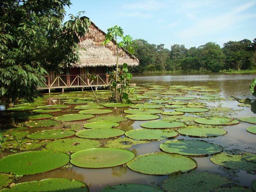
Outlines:
{"label": "wooden deck with crossed-beam railing along the hut's front", "polygon": [[90,79],[86,74],[82,75],[47,75],[45,76],[45,87],[38,87],[38,89],[48,89],[49,93],[51,89],[64,88],[76,88],[76,87],[99,87],[109,86],[108,74],[94,74],[97,78],[95,80]]}

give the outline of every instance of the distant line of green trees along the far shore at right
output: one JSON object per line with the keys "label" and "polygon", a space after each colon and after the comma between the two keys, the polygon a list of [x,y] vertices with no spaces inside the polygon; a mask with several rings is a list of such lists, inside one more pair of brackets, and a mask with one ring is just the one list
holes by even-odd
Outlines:
{"label": "distant line of green trees along the far shore at right", "polygon": [[185,48],[174,44],[170,50],[164,44],[149,44],[136,39],[134,55],[140,64],[130,68],[131,72],[146,71],[212,71],[256,69],[256,38],[253,41],[229,41],[223,48],[208,42],[198,48]]}

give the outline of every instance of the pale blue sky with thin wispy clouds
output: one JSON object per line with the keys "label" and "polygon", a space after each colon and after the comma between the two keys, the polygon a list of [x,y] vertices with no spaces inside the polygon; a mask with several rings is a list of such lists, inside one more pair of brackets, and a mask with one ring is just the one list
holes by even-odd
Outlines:
{"label": "pale blue sky with thin wispy clouds", "polygon": [[[100,29],[118,25],[133,39],[187,48],[256,38],[256,0],[71,0]],[[66,16],[65,20],[68,17]]]}

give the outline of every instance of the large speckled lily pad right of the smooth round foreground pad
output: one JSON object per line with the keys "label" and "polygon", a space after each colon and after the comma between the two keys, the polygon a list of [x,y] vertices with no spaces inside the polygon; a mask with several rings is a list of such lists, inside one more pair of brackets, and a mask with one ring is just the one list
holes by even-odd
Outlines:
{"label": "large speckled lily pad right of the smooth round foreground pad", "polygon": [[[153,166],[157,165],[157,166]],[[169,175],[176,172],[188,172],[195,169],[194,159],[178,154],[151,153],[138,155],[127,166],[136,172],[152,175]]]}

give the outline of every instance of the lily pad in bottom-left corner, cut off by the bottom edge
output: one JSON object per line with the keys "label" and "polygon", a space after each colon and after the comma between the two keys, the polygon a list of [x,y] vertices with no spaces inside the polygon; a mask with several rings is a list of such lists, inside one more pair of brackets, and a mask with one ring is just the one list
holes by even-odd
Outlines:
{"label": "lily pad in bottom-left corner, cut off by the bottom edge", "polygon": [[84,182],[68,178],[48,178],[41,181],[22,182],[5,188],[3,192],[12,191],[63,191],[63,192],[89,192]]}

